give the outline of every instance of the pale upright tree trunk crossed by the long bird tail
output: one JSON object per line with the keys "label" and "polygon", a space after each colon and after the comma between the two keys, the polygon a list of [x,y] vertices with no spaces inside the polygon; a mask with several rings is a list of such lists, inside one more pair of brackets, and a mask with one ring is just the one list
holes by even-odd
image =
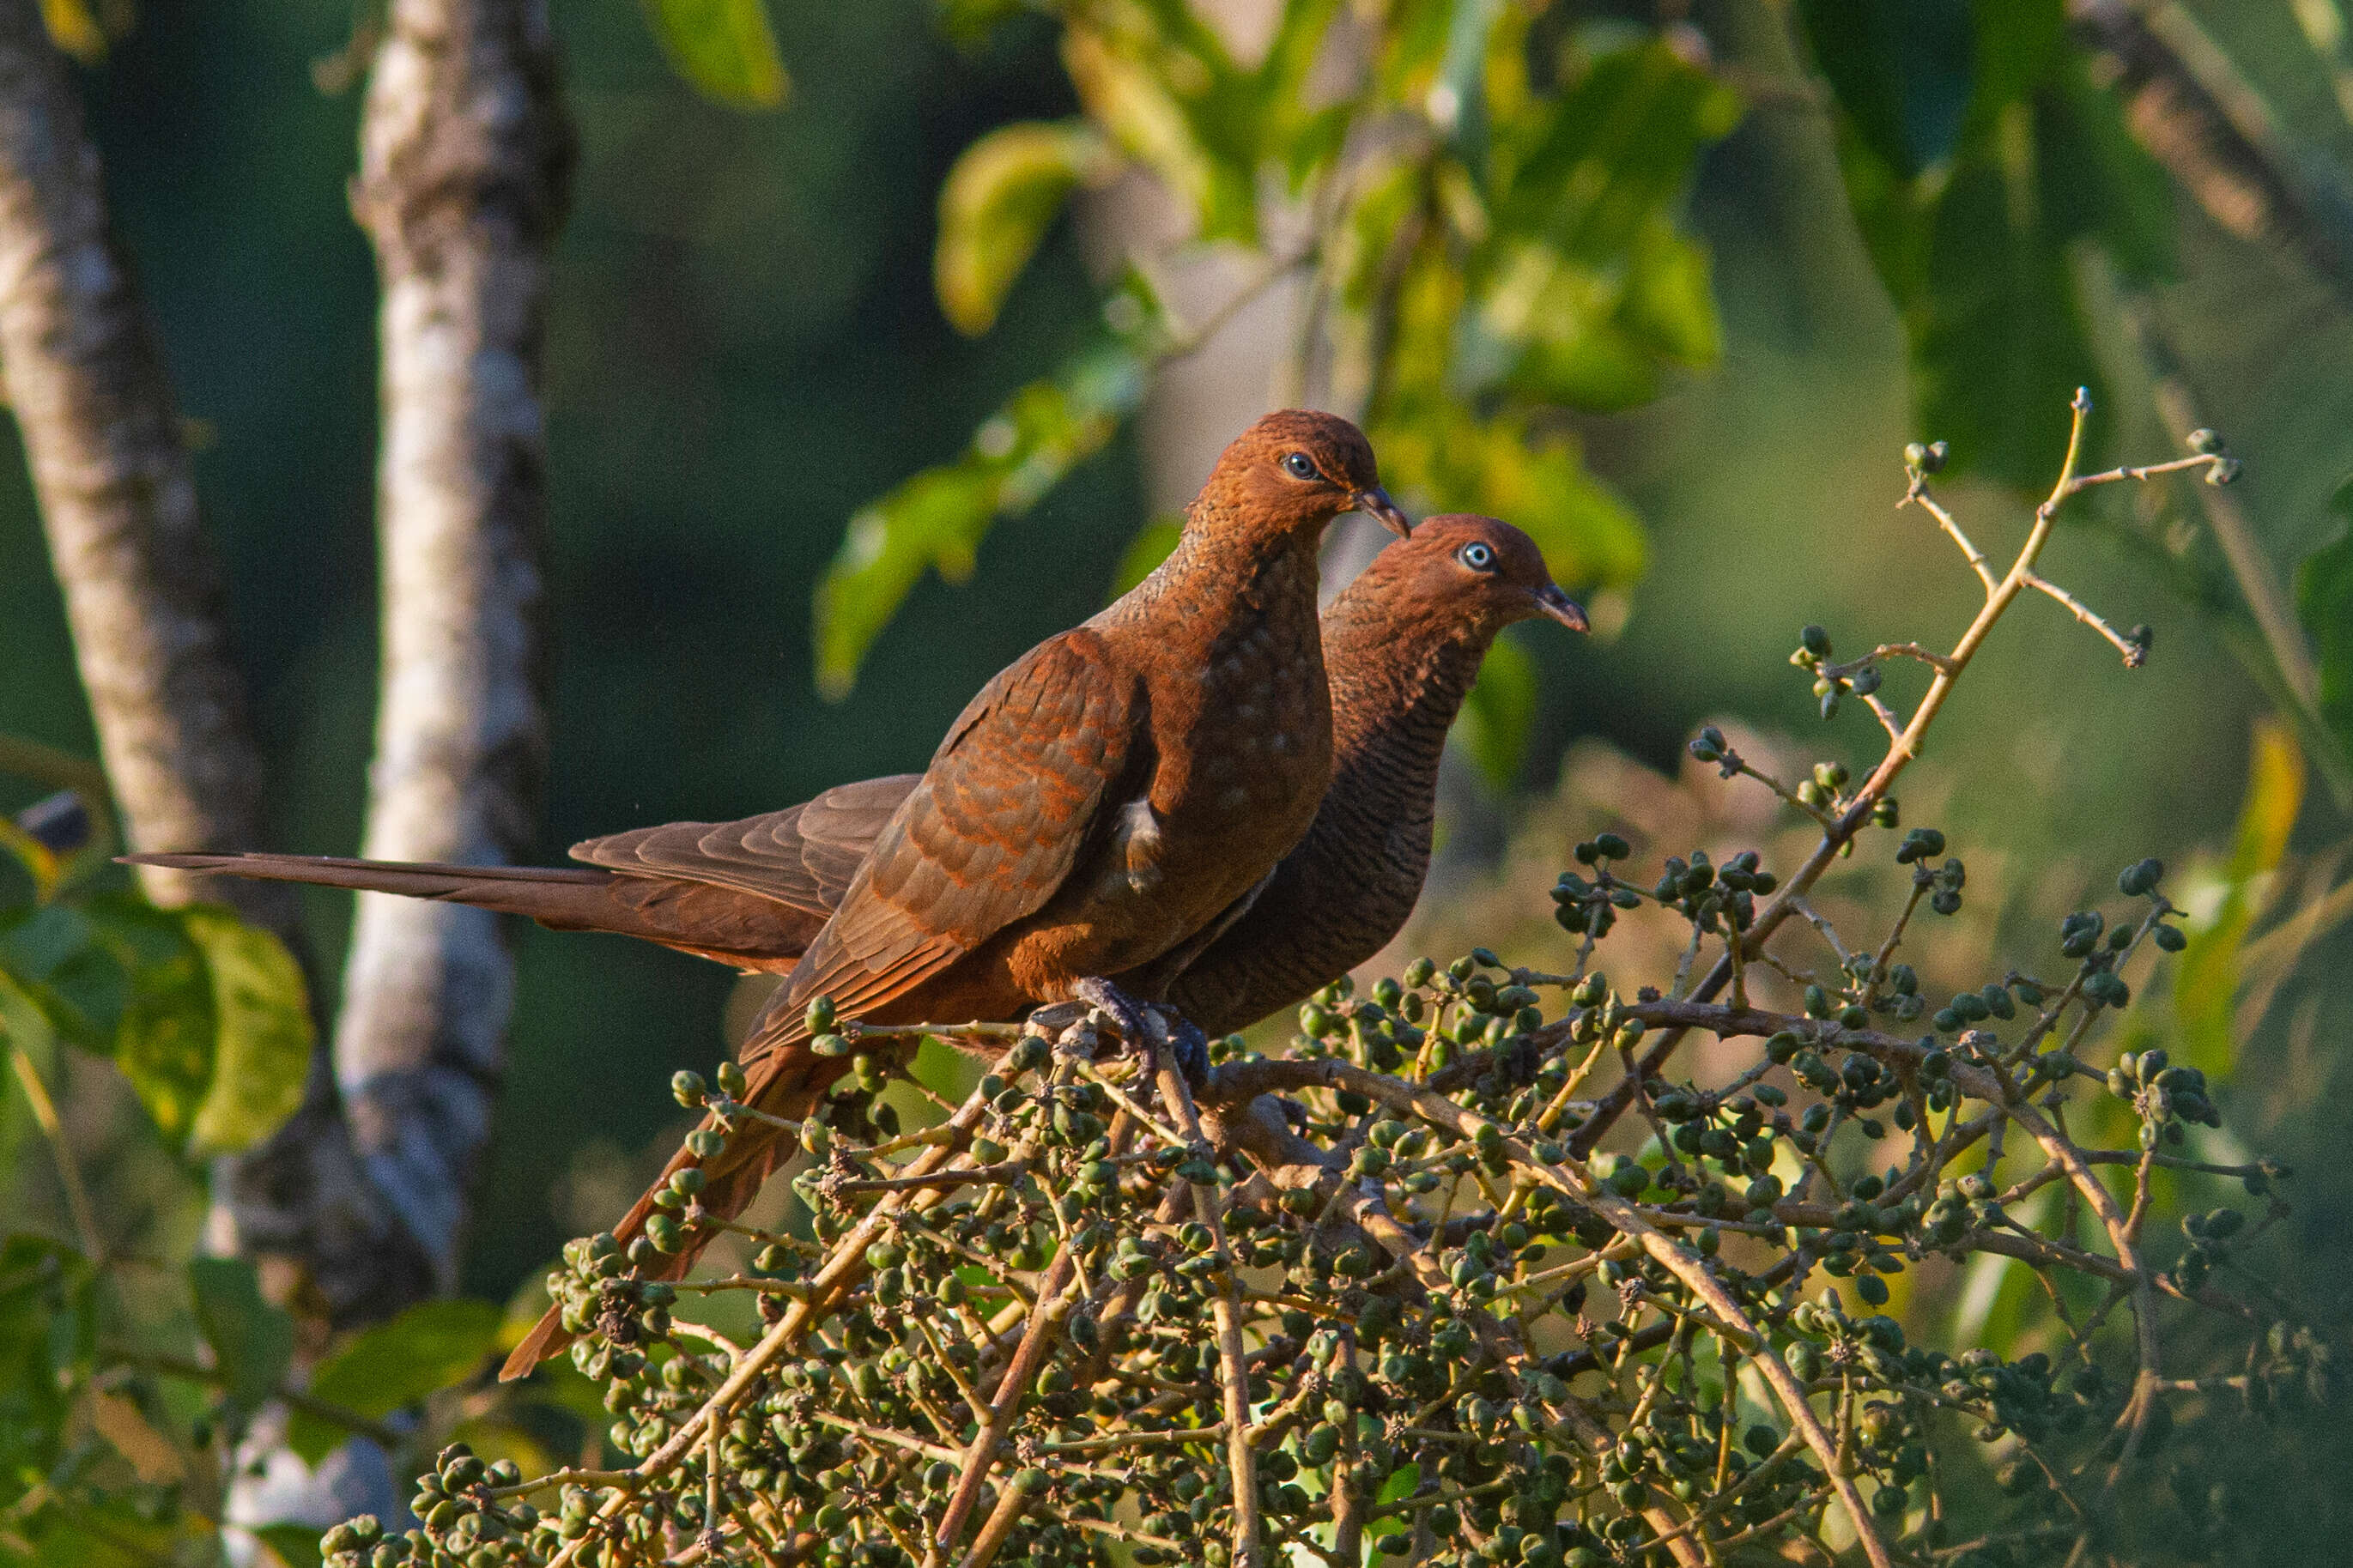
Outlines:
{"label": "pale upright tree trunk crossed by the long bird tail", "polygon": [[[384,654],[365,856],[529,846],[544,755],[539,339],[572,136],[541,0],[395,0],[353,212],[376,247]],[[334,1067],[374,1187],[456,1284],[513,999],[496,917],[360,896]]]}

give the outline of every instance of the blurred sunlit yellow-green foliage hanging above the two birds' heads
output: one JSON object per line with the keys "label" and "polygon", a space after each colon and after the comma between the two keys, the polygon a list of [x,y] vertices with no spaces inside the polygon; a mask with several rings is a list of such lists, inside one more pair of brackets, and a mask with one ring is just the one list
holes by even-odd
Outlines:
{"label": "blurred sunlit yellow-green foliage hanging above the two birds' heads", "polygon": [[[986,35],[1014,9],[951,5],[948,26]],[[1122,400],[1066,390],[1071,409],[1056,407],[1047,386],[1101,376],[1106,350],[1080,350],[1073,371],[981,425],[965,458],[859,512],[819,585],[831,693],[849,691],[925,567],[958,578],[995,517],[1035,503],[1040,487],[993,475],[1059,480],[1134,411],[1160,362],[1294,277],[1313,306],[1289,378],[1304,388],[1320,355],[1334,360],[1329,400],[1360,409],[1412,505],[1513,520],[1569,585],[1640,576],[1642,529],[1586,470],[1560,411],[1645,402],[1661,367],[1720,353],[1706,252],[1675,209],[1699,150],[1739,118],[1727,87],[1642,31],[1562,26],[1544,5],[1285,0],[1257,63],[1174,0],[1035,9],[1061,26],[1085,120],[1000,127],[958,160],[934,247],[948,320],[986,331],[1068,195],[1125,167],[1181,200],[1188,235],[1129,256],[1106,299]],[[1202,247],[1247,256],[1254,280],[1209,322],[1181,322],[1148,280]],[[1092,442],[1033,437],[1040,402],[1073,430],[1108,423]],[[1489,693],[1487,722],[1508,703],[1529,710]],[[1525,722],[1497,733],[1489,757],[1515,757],[1525,738]]]}

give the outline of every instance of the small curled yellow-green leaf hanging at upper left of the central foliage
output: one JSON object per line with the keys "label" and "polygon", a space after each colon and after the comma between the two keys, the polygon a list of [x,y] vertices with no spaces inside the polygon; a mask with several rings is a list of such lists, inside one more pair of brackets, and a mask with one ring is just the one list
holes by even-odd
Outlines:
{"label": "small curled yellow-green leaf hanging at upper left of the central foliage", "polygon": [[988,331],[1064,200],[1115,165],[1085,120],[1005,125],[967,146],[939,188],[932,282],[948,322]]}

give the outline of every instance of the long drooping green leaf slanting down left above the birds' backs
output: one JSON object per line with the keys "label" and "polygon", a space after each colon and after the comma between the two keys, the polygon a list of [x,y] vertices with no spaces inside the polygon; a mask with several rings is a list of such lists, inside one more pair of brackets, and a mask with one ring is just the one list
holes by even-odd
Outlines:
{"label": "long drooping green leaf slanting down left above the birds' backs", "polygon": [[972,574],[988,527],[1019,515],[1104,449],[1144,397],[1144,357],[1127,341],[1089,348],[991,416],[953,463],[927,468],[849,520],[816,583],[816,689],[845,698],[873,639],[927,569]]}

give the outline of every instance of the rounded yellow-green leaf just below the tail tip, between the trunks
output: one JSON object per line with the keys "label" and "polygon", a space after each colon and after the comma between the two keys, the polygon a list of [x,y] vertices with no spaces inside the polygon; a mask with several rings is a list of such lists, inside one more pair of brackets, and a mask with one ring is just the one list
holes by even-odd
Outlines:
{"label": "rounded yellow-green leaf just below the tail tip, between the trunks", "polygon": [[228,910],[179,910],[212,980],[212,1084],[195,1107],[188,1152],[247,1150],[301,1105],[311,1065],[311,999],[301,966],[275,936]]}

